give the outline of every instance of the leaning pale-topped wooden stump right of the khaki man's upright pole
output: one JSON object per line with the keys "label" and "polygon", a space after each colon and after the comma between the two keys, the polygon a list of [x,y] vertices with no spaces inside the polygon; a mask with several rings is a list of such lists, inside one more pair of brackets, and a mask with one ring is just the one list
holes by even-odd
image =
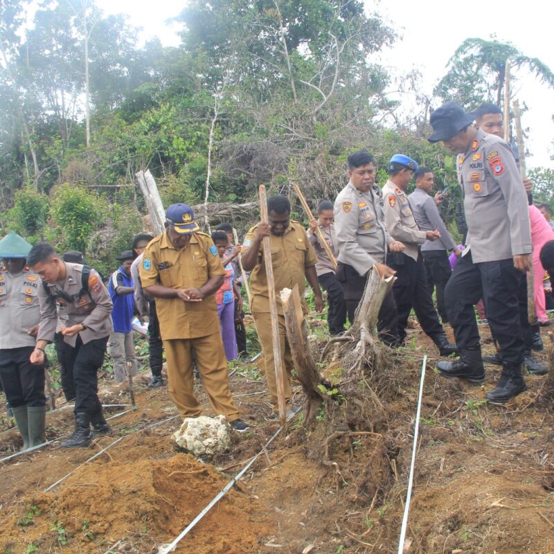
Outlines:
{"label": "leaning pale-topped wooden stump right of the khaki man's upright pole", "polygon": [[307,343],[298,285],[294,285],[292,290],[283,289],[280,292],[280,298],[283,302],[287,339],[294,361],[294,368],[296,368],[298,381],[301,382],[307,397],[304,421],[310,423],[316,417],[317,410],[323,406],[324,397],[317,388],[321,382],[321,377],[319,377],[312,352],[310,352],[310,346]]}

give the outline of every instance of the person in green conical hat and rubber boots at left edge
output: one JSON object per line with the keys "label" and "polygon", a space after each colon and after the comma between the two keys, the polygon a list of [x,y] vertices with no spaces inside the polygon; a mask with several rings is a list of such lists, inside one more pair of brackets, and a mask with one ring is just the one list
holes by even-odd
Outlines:
{"label": "person in green conical hat and rubber boots at left edge", "polygon": [[23,449],[44,443],[44,364],[33,366],[40,320],[39,277],[26,266],[31,245],[12,231],[0,240],[0,381]]}

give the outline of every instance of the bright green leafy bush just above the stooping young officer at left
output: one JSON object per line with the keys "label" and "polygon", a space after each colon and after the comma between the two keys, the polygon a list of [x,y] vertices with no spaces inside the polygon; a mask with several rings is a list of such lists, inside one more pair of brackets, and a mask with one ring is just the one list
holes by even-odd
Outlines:
{"label": "bright green leafy bush just above the stooping young officer at left", "polygon": [[57,186],[51,204],[51,216],[60,250],[87,251],[91,233],[108,213],[105,200],[84,186]]}

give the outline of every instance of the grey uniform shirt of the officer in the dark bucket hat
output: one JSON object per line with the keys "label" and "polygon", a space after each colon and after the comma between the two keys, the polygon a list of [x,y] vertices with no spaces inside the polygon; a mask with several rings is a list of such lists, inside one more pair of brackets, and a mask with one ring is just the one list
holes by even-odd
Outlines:
{"label": "grey uniform shirt of the officer in the dark bucket hat", "polygon": [[527,195],[509,145],[477,129],[457,162],[472,260],[494,262],[531,253]]}

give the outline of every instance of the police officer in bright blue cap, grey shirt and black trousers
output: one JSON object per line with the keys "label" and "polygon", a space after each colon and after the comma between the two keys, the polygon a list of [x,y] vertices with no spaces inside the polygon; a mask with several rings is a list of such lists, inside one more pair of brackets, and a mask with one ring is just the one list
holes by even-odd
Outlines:
{"label": "police officer in bright blue cap, grey shirt and black trousers", "polygon": [[396,270],[393,292],[398,308],[398,336],[401,341],[406,338],[406,325],[413,307],[422,330],[431,337],[440,355],[448,356],[458,349],[448,342],[445,330],[438,322],[420,252],[421,244],[440,238],[440,233],[436,230],[420,231],[404,193],[417,170],[418,164],[413,159],[396,154],[389,163],[389,177],[383,187],[386,229],[393,239],[401,240],[406,247],[403,252],[389,253],[386,258],[388,267]]}

